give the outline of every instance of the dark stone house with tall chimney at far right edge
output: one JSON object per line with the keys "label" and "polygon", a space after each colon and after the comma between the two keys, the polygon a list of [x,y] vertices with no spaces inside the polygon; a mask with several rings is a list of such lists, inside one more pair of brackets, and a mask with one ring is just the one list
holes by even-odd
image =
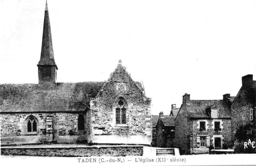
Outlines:
{"label": "dark stone house with tall chimney at far right edge", "polygon": [[252,77],[242,77],[242,87],[231,105],[235,153],[256,153],[255,146],[244,148],[244,142],[256,141],[256,81]]}

